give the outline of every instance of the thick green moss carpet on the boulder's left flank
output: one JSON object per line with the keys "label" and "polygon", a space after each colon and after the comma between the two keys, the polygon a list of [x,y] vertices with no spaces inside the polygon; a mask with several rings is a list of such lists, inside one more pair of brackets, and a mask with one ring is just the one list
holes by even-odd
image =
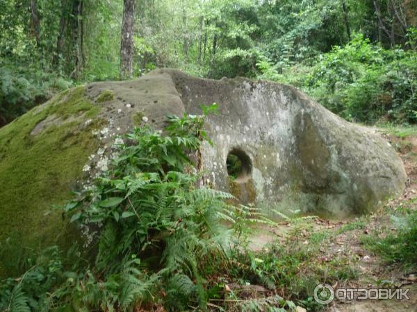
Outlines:
{"label": "thick green moss carpet on the boulder's left flank", "polygon": [[95,123],[80,130],[85,119],[79,118],[49,125],[39,135],[31,131],[51,114],[96,116],[99,109],[84,94],[84,87],[63,92],[0,129],[0,240],[18,233],[27,245],[47,244],[62,231],[54,205],[71,198],[88,155],[97,149]]}

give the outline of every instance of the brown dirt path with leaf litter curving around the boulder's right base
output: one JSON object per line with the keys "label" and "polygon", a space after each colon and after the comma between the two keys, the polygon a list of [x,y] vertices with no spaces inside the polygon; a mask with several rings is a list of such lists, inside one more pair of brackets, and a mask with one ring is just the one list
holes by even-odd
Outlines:
{"label": "brown dirt path with leaf litter curving around the boulder's right base", "polygon": [[[339,280],[332,285],[335,289],[409,288],[409,300],[335,299],[325,306],[325,311],[417,311],[417,272],[398,263],[388,265],[382,257],[371,251],[372,244],[397,231],[393,225],[393,216],[396,216],[397,211],[403,208],[417,209],[417,128],[376,130],[389,141],[404,161],[408,180],[400,198],[389,200],[384,207],[368,216],[352,220],[311,218],[300,219],[297,222],[282,222],[278,227],[263,227],[255,231],[250,239],[250,248],[259,252],[265,248],[265,243],[272,241],[282,244],[297,241],[299,244],[308,245],[309,249],[316,249],[313,253],[316,257],[308,259],[308,263],[300,270],[309,272],[320,268],[322,272],[332,275],[332,270],[337,270],[339,266],[338,269],[345,270],[346,274],[338,273]],[[320,278],[320,275],[316,277]],[[283,290],[282,293],[288,293],[288,290]],[[306,308],[307,311],[310,310],[309,306]]]}

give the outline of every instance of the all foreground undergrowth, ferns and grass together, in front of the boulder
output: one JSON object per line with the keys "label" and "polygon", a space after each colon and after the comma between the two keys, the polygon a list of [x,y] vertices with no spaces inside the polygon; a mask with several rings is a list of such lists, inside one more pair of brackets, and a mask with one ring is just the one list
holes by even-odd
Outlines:
{"label": "all foreground undergrowth, ferns and grass together, in front of the boulder", "polygon": [[320,311],[317,284],[356,278],[349,259],[322,261],[333,234],[315,232],[313,217],[299,211],[275,211],[291,223],[286,241],[250,249],[253,223],[276,224],[202,185],[204,115],[169,116],[163,132],[125,135],[110,170],[63,207],[82,245],[64,254],[57,246],[21,248],[13,237],[3,243],[9,278],[0,311],[293,311],[295,304]]}

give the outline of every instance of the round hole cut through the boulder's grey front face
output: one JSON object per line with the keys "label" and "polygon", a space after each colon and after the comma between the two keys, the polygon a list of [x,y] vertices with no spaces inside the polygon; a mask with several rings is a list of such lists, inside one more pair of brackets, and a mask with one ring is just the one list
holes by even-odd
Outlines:
{"label": "round hole cut through the boulder's grey front face", "polygon": [[233,148],[226,159],[227,174],[236,182],[245,182],[250,178],[252,162],[240,148]]}

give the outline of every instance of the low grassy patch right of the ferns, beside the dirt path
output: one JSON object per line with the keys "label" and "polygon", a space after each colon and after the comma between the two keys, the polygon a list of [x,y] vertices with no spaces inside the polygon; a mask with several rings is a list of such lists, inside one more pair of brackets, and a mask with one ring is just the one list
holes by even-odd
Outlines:
{"label": "low grassy patch right of the ferns, beside the dirt path", "polygon": [[[251,218],[235,218],[240,225],[246,223],[246,226],[235,229],[240,241],[236,243],[236,248],[232,248],[234,266],[227,276],[237,280],[238,284],[261,285],[270,291],[279,291],[286,300],[293,300],[308,311],[322,311],[322,306],[313,300],[313,289],[322,282],[333,285],[337,281],[341,285],[357,279],[354,259],[332,257],[328,263],[322,263],[322,248],[334,240],[334,232],[317,232],[312,226],[314,223],[311,223],[314,217],[298,216],[299,211],[293,211],[290,216],[278,211],[277,214],[291,224],[291,232],[284,241],[274,241],[258,251],[250,250],[247,245],[248,236],[245,231],[248,230],[250,224],[247,222]],[[236,298],[233,295],[238,296],[232,292],[231,297]],[[275,311],[286,306],[285,302],[273,304],[271,299],[267,297],[259,302],[249,300],[242,306],[247,311],[256,311],[255,306],[259,304],[265,311]]]}

